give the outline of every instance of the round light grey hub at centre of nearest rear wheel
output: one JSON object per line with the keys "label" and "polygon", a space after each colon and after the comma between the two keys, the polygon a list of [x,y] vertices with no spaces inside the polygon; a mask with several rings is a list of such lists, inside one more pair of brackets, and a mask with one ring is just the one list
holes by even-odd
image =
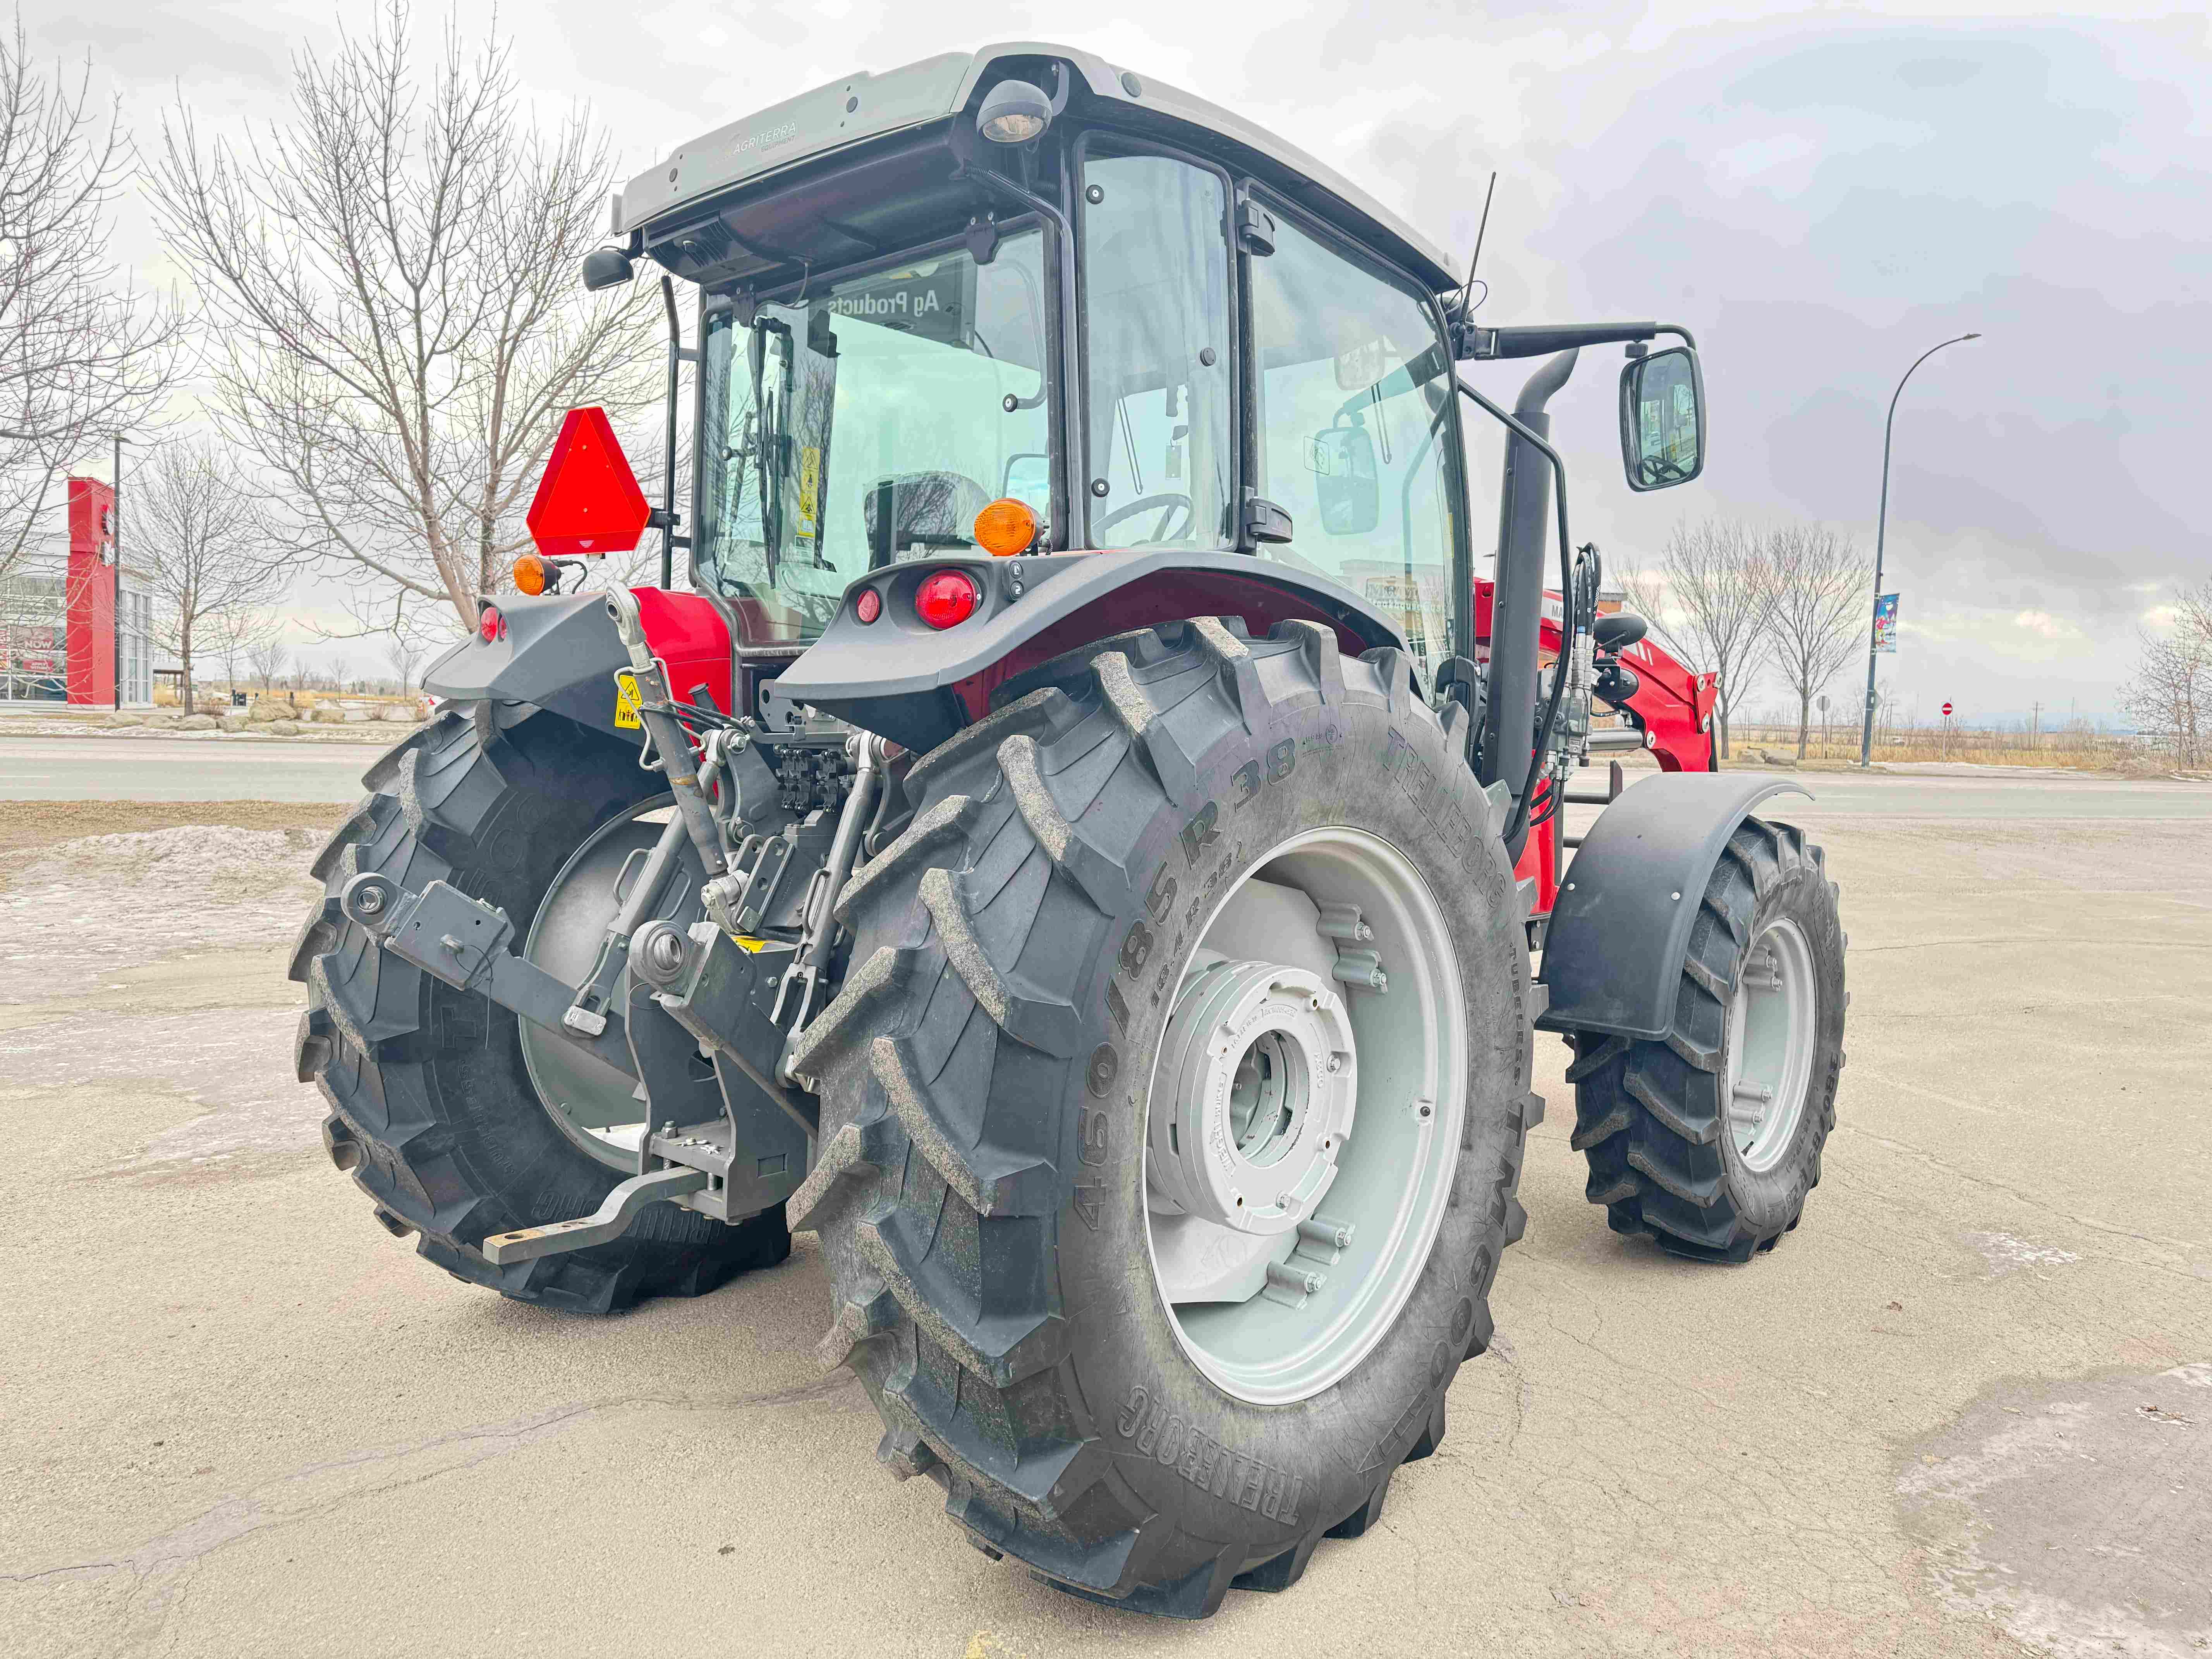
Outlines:
{"label": "round light grey hub at centre of nearest rear wheel", "polygon": [[1314,1212],[1352,1133],[1358,1060],[1345,1002],[1283,962],[1194,967],[1168,1020],[1152,1208],[1245,1234]]}

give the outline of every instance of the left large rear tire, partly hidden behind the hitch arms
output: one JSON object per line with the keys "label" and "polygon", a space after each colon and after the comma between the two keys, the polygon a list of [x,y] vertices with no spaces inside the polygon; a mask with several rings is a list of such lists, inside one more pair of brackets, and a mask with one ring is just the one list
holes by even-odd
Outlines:
{"label": "left large rear tire, partly hidden behind the hitch arms", "polygon": [[728,1228],[648,1206],[622,1239],[493,1267],[487,1234],[599,1208],[622,1179],[564,1133],[531,1086],[518,1020],[476,991],[389,956],[338,911],[376,869],[409,889],[445,880],[500,905],[526,936],[555,874],[595,830],[655,792],[637,752],[557,714],[462,703],[385,752],[314,863],[292,978],[307,987],[299,1077],[330,1102],[323,1144],[394,1234],[476,1285],[588,1314],[641,1296],[697,1296],[790,1254],[783,1210]]}

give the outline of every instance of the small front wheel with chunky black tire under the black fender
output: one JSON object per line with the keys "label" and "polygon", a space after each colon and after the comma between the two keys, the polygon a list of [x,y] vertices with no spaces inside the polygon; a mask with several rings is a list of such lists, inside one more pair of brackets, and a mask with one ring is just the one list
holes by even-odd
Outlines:
{"label": "small front wheel with chunky black tire under the black fender", "polygon": [[[1590,1203],[1606,1225],[1650,1234],[1663,1250],[1699,1261],[1750,1261],[1796,1228],[1805,1194],[1820,1183],[1820,1148],[1836,1126],[1843,1071],[1843,922],[1820,849],[1787,823],[1745,818],[1705,883],[1666,1042],[1577,1031],[1577,1152],[1590,1161]],[[1803,956],[1792,973],[1809,1000],[1794,1097],[1767,1106],[1785,1115],[1761,1128],[1732,1084],[1743,1082],[1743,1022],[1754,956],[1767,969],[1770,940]],[[1781,973],[1781,969],[1774,969]],[[1747,1084],[1747,1088],[1752,1088]],[[1781,1091],[1790,1095],[1792,1091]]]}

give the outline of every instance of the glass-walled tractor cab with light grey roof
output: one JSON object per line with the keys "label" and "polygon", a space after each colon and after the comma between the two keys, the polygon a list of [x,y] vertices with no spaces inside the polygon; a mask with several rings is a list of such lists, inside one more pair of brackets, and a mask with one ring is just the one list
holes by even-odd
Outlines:
{"label": "glass-walled tractor cab with light grey roof", "polygon": [[1451,655],[1455,279],[1234,113],[1079,51],[956,53],[684,146],[615,230],[602,279],[699,285],[692,582],[743,648],[914,560],[1166,551],[1354,595],[1425,679]]}

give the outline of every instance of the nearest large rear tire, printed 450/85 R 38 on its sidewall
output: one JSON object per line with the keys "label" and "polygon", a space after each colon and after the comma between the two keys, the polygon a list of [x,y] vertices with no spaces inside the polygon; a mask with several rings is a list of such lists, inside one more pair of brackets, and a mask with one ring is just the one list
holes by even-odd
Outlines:
{"label": "nearest large rear tire, printed 450/85 R 38 on its sidewall", "polygon": [[[1524,900],[1495,803],[1396,650],[1349,661],[1312,624],[1261,641],[1208,619],[1024,686],[916,763],[911,827],[841,900],[856,942],[794,1055],[823,1141],[790,1214],[830,1263],[823,1363],[867,1385],[894,1473],[929,1473],[978,1546],[1064,1588],[1203,1617],[1230,1586],[1287,1588],[1323,1537],[1374,1524],[1491,1338],[1542,1110]],[[1146,1170],[1181,1099],[1172,1066],[1155,1073],[1172,1018],[1192,987],[1219,989],[1192,967],[1199,942],[1256,872],[1272,885],[1301,858],[1369,858],[1371,902],[1398,918],[1374,940],[1396,951],[1387,998],[1413,1009],[1425,982],[1449,984],[1464,1022],[1431,1046],[1451,1055],[1433,1102],[1413,1082],[1394,1099],[1360,1084],[1343,1168],[1387,1155],[1391,1113],[1398,1144],[1420,1146],[1433,1108],[1438,1152],[1409,1161],[1402,1201],[1369,1197],[1374,1294],[1340,1314],[1312,1298],[1356,1340],[1314,1334],[1310,1365],[1270,1371],[1276,1303],[1214,1340],[1164,1296]],[[1416,916],[1440,927],[1416,936]],[[1296,982],[1303,1009],[1336,1018],[1325,980]],[[1387,1046],[1360,1053],[1387,1093]],[[1416,1166],[1438,1172],[1429,1208]]]}

